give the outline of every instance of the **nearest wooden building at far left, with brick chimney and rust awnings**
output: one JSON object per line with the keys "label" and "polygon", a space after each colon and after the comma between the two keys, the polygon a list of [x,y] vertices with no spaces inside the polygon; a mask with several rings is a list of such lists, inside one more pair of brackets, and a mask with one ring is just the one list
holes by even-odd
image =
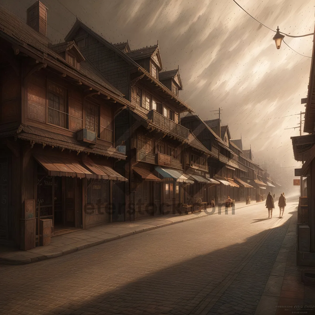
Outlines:
{"label": "nearest wooden building at far left, with brick chimney and rust awnings", "polygon": [[0,20],[1,240],[26,250],[47,220],[52,235],[121,220],[114,116],[130,101],[76,43],[49,42],[41,2],[27,24],[2,6]]}

